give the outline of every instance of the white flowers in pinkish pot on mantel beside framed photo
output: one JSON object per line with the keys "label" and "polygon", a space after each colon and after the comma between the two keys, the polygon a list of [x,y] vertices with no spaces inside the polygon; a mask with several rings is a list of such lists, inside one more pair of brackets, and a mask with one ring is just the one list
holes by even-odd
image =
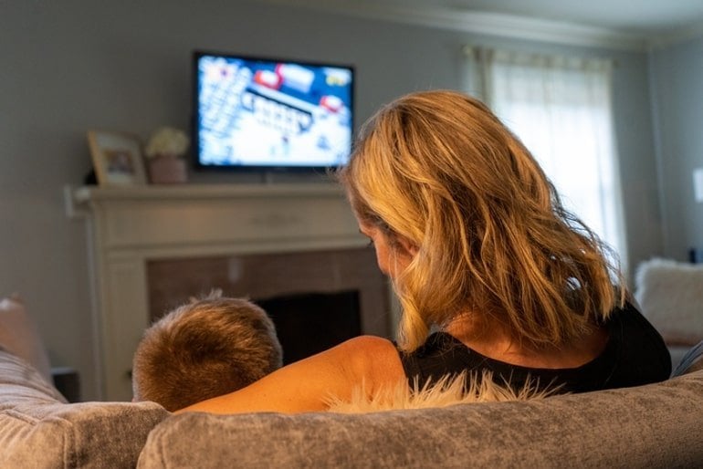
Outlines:
{"label": "white flowers in pinkish pot on mantel beside framed photo", "polygon": [[184,160],[188,137],[183,130],[162,127],[156,130],[144,149],[147,156],[149,180],[154,184],[186,182],[188,173]]}

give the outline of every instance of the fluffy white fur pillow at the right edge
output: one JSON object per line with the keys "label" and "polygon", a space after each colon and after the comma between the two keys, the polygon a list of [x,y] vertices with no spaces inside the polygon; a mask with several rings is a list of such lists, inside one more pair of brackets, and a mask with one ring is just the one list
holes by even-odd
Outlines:
{"label": "fluffy white fur pillow at the right edge", "polygon": [[703,266],[651,259],[637,268],[635,299],[669,345],[703,339]]}

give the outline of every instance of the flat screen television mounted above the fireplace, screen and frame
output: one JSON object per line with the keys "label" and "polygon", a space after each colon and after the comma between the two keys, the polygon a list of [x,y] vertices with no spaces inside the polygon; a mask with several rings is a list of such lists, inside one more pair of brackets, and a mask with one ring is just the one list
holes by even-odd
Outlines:
{"label": "flat screen television mounted above the fireplace, screen and frame", "polygon": [[352,151],[354,69],[194,52],[196,169],[315,171]]}

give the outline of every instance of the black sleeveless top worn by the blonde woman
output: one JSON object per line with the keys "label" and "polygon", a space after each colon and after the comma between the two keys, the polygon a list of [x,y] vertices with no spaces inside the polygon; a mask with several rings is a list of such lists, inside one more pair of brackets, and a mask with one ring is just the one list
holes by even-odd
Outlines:
{"label": "black sleeveless top worn by the blonde woman", "polygon": [[669,377],[671,358],[664,340],[634,306],[616,308],[604,324],[609,337],[603,352],[577,368],[528,368],[493,360],[446,332],[430,335],[413,353],[399,353],[408,381],[418,380],[420,385],[462,371],[474,379],[490,371],[495,382],[508,383],[514,390],[529,380],[538,389],[559,387],[557,392],[625,388]]}

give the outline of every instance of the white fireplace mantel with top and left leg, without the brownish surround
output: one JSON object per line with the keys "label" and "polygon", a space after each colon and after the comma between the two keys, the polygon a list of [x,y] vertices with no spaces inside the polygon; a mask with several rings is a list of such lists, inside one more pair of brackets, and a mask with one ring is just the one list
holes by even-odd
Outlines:
{"label": "white fireplace mantel with top and left leg, without the brownish surround", "polygon": [[70,212],[89,228],[100,399],[131,400],[131,359],[148,326],[152,259],[361,247],[331,184],[81,187]]}

